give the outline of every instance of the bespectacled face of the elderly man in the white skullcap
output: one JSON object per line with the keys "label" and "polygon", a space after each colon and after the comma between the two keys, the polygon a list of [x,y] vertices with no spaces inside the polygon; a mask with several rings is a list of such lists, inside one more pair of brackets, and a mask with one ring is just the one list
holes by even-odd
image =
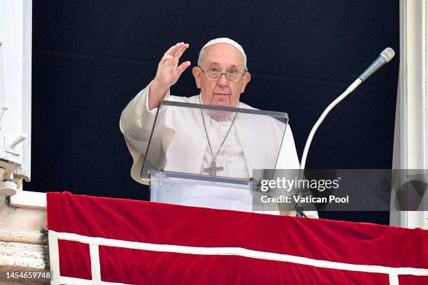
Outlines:
{"label": "bespectacled face of the elderly man in the white skullcap", "polygon": [[[235,69],[244,73],[242,54],[233,45],[216,43],[206,48],[201,68],[204,71],[217,68],[222,73]],[[192,73],[197,87],[201,89],[202,103],[206,105],[236,107],[241,93],[250,82],[250,73],[245,73],[238,82],[229,82],[225,75],[216,81],[208,80],[198,67],[194,67]]]}

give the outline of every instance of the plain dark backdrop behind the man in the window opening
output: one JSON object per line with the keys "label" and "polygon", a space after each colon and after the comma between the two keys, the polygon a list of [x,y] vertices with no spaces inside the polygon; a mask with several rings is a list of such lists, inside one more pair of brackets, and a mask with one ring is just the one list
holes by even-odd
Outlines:
{"label": "plain dark backdrop behind the man in the window opening", "polygon": [[[288,112],[299,157],[322,110],[385,47],[397,57],[345,99],[316,134],[307,168],[391,168],[399,1],[33,1],[29,191],[148,199],[129,177],[120,113],[171,45],[197,63],[212,38],[243,45],[243,102]],[[198,90],[190,68],[172,94]],[[387,212],[321,217],[388,223]]]}

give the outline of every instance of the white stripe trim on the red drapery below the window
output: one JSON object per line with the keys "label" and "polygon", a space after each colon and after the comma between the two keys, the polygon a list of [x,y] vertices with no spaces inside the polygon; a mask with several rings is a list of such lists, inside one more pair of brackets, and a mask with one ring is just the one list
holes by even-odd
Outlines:
{"label": "white stripe trim on the red drapery below the window", "polygon": [[[52,238],[52,240],[51,240]],[[90,261],[92,269],[92,280],[62,277],[59,275],[59,253],[58,240],[70,240],[90,244]],[[52,245],[51,245],[52,242]],[[334,261],[324,261],[303,256],[292,256],[290,254],[276,254],[274,252],[256,251],[243,247],[188,247],[175,244],[152,244],[147,242],[130,242],[127,240],[113,240],[108,238],[94,238],[76,233],[57,233],[49,231],[50,244],[50,266],[51,269],[58,270],[54,274],[52,284],[120,284],[101,281],[99,246],[122,247],[127,249],[140,249],[159,252],[173,252],[177,254],[197,254],[197,255],[227,255],[244,256],[247,258],[257,258],[270,261],[281,261],[287,263],[297,263],[300,265],[314,266],[318,268],[330,268],[335,270],[350,270],[357,272],[380,273],[389,275],[390,284],[399,284],[398,275],[428,276],[427,268],[393,268],[380,265],[352,264]],[[56,245],[56,247],[55,247]],[[52,252],[55,251],[55,252]],[[56,268],[56,269],[55,269]]]}

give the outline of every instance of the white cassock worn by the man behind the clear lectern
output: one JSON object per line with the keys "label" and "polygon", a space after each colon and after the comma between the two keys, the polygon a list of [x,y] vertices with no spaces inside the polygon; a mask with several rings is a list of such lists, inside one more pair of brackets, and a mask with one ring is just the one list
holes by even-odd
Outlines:
{"label": "white cassock worn by the man behind the clear lectern", "polygon": [[[139,183],[144,183],[141,180],[141,168],[157,112],[157,108],[148,110],[149,89],[150,85],[139,92],[124,108],[120,117],[120,130],[124,134],[127,147],[134,159],[131,177]],[[190,98],[170,96],[169,91],[163,100],[185,103],[200,102],[199,96]],[[255,109],[242,102],[239,103],[239,108]],[[238,113],[232,124],[234,114],[222,119],[215,119],[208,115],[206,110],[202,113],[214,154],[217,153],[222,141],[226,138],[216,159],[217,166],[223,167],[224,170],[218,172],[217,176],[248,179],[252,177],[253,169],[300,168],[290,126],[286,127],[282,122],[269,116]],[[150,158],[161,159],[164,157],[163,168],[166,171],[204,174],[203,170],[210,166],[213,156],[208,147],[201,115],[199,109],[167,106],[166,109],[159,110],[157,126],[163,129],[154,132],[159,133],[159,136],[153,137],[150,142]],[[251,120],[253,122],[250,122]],[[162,123],[159,124],[159,122]],[[229,128],[231,129],[227,135]],[[159,161],[151,161],[151,163],[159,166]],[[227,195],[227,193],[224,194]],[[212,195],[208,200],[204,197],[187,198],[180,200],[179,204],[201,207],[208,205],[209,207],[210,204],[216,203],[213,201]],[[220,200],[224,200],[224,197]],[[234,210],[244,209],[238,207]]]}

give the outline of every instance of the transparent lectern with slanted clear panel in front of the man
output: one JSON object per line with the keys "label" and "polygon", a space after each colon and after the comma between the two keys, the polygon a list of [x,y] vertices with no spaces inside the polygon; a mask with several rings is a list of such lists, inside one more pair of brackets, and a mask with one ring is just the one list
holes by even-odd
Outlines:
{"label": "transparent lectern with slanted clear panel in front of the man", "polygon": [[263,212],[253,170],[276,168],[287,123],[285,112],[162,101],[141,169],[150,200]]}

